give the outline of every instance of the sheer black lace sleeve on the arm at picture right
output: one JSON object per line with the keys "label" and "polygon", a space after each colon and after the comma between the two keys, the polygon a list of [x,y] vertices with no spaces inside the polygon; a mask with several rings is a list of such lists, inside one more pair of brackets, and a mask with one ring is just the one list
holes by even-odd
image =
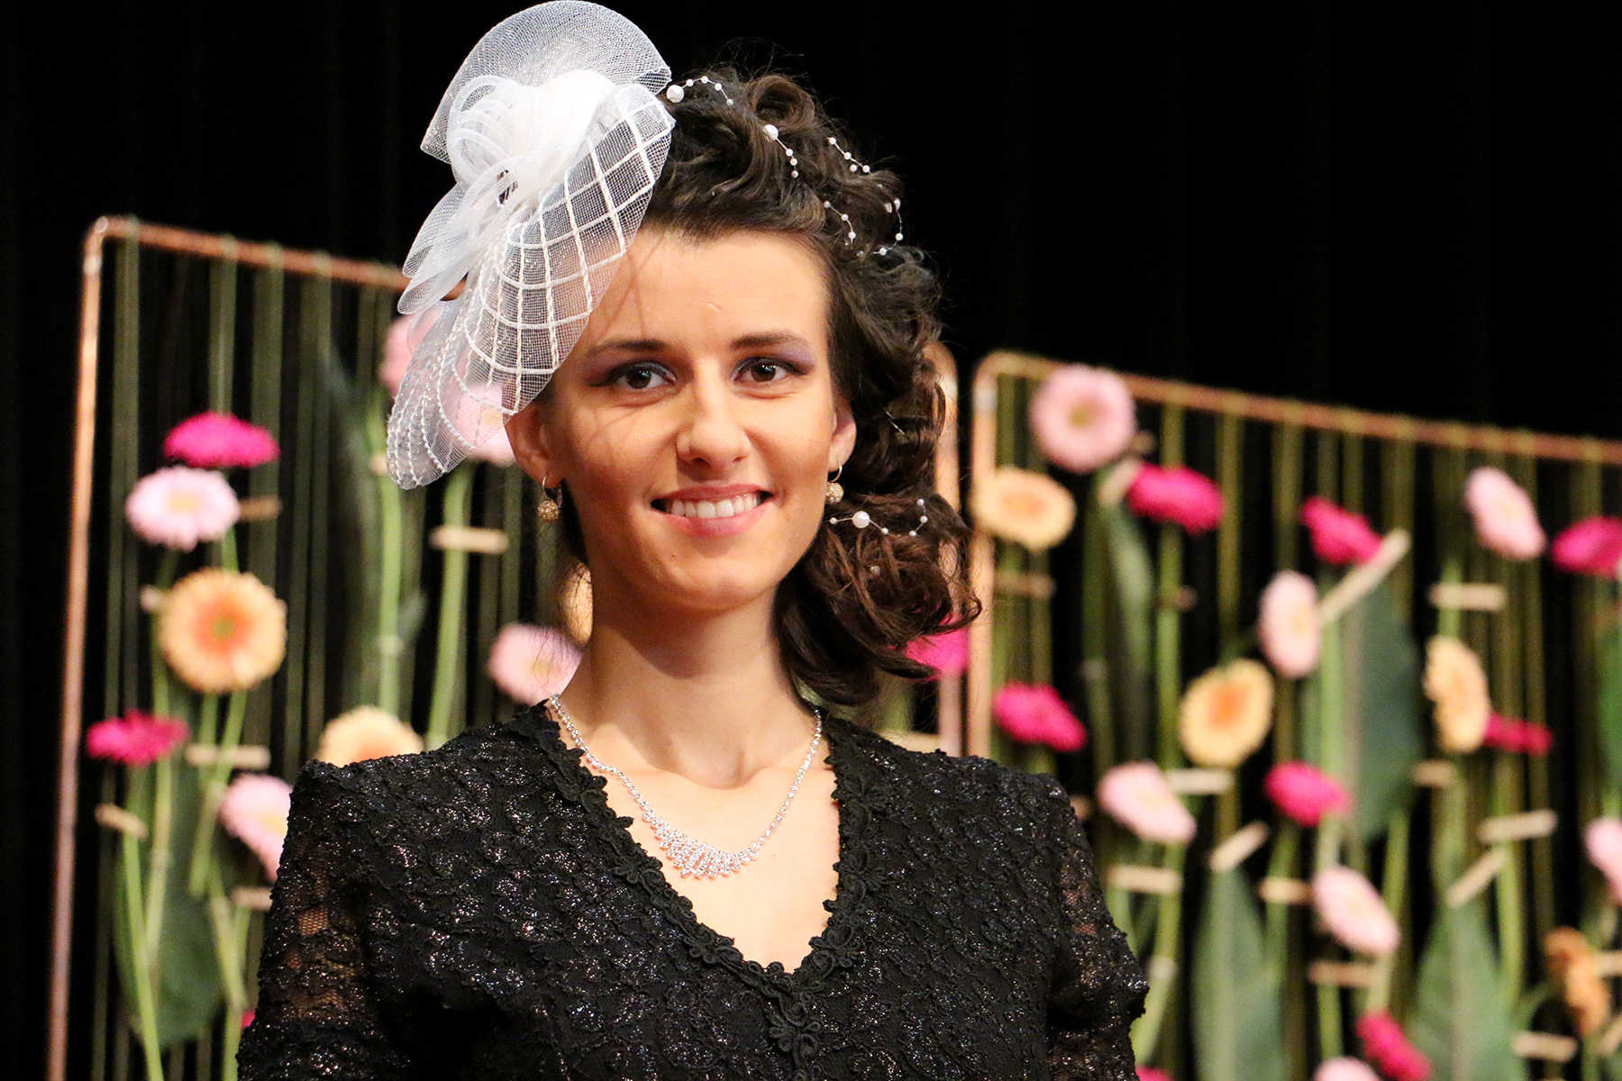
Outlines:
{"label": "sheer black lace sleeve on the arm at picture right", "polygon": [[1051,791],[1064,925],[1048,998],[1048,1066],[1054,1081],[1132,1081],[1132,1019],[1148,982],[1105,908],[1092,846],[1071,801]]}

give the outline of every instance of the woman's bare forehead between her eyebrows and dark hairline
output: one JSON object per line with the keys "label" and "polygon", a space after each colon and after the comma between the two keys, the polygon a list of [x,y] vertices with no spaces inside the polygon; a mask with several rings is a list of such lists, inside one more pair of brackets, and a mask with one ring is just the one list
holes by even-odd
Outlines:
{"label": "woman's bare forehead between her eyebrows and dark hairline", "polygon": [[696,240],[654,227],[631,241],[576,348],[603,340],[702,348],[787,331],[826,352],[827,324],[822,258],[796,237],[735,232]]}

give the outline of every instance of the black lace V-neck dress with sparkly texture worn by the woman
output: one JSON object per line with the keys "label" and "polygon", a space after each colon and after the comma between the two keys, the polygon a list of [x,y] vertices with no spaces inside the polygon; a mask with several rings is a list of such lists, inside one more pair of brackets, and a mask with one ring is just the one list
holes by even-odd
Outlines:
{"label": "black lace V-neck dress with sparkly texture worn by the woman", "polygon": [[792,972],[694,919],[545,710],[307,763],[240,1076],[1134,1078],[1147,985],[1064,791],[827,741],[839,890]]}

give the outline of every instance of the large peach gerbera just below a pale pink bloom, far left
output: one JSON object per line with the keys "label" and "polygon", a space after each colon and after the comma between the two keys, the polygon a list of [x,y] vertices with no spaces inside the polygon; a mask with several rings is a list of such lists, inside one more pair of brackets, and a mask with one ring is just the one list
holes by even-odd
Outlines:
{"label": "large peach gerbera just below a pale pink bloom, far left", "polygon": [[164,600],[157,642],[193,690],[247,690],[281,668],[287,605],[251,574],[193,570]]}

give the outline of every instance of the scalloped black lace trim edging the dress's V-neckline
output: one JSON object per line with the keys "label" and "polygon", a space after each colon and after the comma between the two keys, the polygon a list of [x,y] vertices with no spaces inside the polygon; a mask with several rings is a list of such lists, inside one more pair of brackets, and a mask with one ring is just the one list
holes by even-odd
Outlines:
{"label": "scalloped black lace trim edging the dress's V-neckline", "polygon": [[[615,812],[613,805],[608,802],[608,778],[599,773],[592,773],[584,762],[584,752],[579,747],[571,747],[563,742],[563,733],[558,726],[558,720],[551,716],[551,710],[547,708],[545,702],[540,702],[529,710],[524,710],[514,720],[527,720],[532,724],[532,731],[542,737],[542,747],[550,752],[553,762],[560,770],[563,770],[574,784],[566,786],[564,796],[577,802],[592,823],[599,828],[599,833],[608,841],[608,844],[621,856],[631,857],[641,862],[649,874],[636,875],[636,882],[646,887],[649,899],[660,909],[667,911],[676,929],[688,945],[697,946],[702,955],[714,953],[719,958],[730,959],[736,968],[748,972],[757,981],[770,984],[801,984],[811,972],[827,972],[832,964],[824,964],[821,955],[835,948],[835,940],[848,938],[839,932],[843,919],[847,917],[847,909],[852,904],[852,882],[850,867],[852,854],[855,846],[860,843],[856,835],[856,822],[861,815],[852,814],[848,801],[852,793],[845,784],[845,771],[840,768],[840,758],[845,749],[845,733],[835,718],[826,716],[822,720],[822,737],[827,742],[827,767],[834,773],[834,804],[835,814],[839,815],[839,859],[834,861],[834,899],[824,901],[822,908],[827,911],[827,921],[822,924],[822,930],[809,938],[809,950],[800,958],[800,963],[793,969],[783,968],[782,961],[770,961],[761,964],[753,958],[743,956],[738,950],[738,943],[732,935],[725,935],[704,921],[697,917],[693,909],[693,899],[688,895],[676,890],[665,878],[665,870],[662,861],[647,851],[636,835],[631,833],[631,825],[634,818],[626,818]],[[832,932],[832,934],[830,934]]]}

